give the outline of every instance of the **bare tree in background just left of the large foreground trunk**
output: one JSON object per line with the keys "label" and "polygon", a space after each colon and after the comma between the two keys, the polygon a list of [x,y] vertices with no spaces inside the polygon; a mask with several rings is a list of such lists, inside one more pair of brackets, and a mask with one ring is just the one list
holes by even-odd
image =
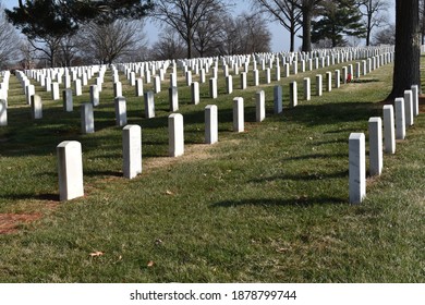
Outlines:
{"label": "bare tree in background just left of the large foreground trunk", "polygon": [[359,0],[363,16],[366,19],[366,46],[371,45],[372,30],[388,24],[388,16],[384,13],[389,8],[388,0]]}

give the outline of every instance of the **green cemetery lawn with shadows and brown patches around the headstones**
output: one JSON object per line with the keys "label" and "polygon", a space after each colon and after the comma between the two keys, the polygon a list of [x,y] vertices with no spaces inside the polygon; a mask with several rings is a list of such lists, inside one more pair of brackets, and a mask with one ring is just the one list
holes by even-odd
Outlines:
{"label": "green cemetery lawn with shadows and brown patches around the headstones", "polygon": [[[122,176],[111,82],[95,109],[96,132],[82,135],[88,87],[74,96],[73,112],[36,87],[44,117],[33,121],[12,76],[9,125],[0,127],[0,281],[423,282],[425,117],[397,142],[396,155],[385,155],[364,203],[349,205],[348,138],[364,132],[367,139],[368,119],[381,117],[392,65],[321,97],[313,81],[312,100],[303,100],[303,77],[327,71],[282,78],[281,114],[272,114],[276,82],[262,85],[262,123],[258,87],[227,95],[219,77],[218,98],[203,84],[195,106],[181,77],[186,147],[179,158],[167,157],[168,81],[147,120],[143,97],[120,74],[129,123],[142,126],[143,173],[134,180]],[[289,108],[293,80],[300,100]],[[244,97],[244,133],[232,132],[235,96]],[[219,142],[207,146],[204,108],[212,103]],[[82,143],[85,196],[60,203],[56,147],[68,139]]]}

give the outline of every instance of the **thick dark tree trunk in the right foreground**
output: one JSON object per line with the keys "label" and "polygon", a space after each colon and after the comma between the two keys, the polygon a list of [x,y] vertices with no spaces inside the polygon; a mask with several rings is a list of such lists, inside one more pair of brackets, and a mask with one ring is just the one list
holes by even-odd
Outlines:
{"label": "thick dark tree trunk in the right foreground", "polygon": [[412,85],[421,85],[418,0],[396,0],[396,60],[389,98],[402,97]]}

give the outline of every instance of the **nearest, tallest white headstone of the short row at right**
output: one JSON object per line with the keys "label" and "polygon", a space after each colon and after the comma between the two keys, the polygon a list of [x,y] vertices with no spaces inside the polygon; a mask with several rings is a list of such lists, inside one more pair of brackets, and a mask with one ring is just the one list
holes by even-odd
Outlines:
{"label": "nearest, tallest white headstone of the short row at right", "polygon": [[349,193],[350,204],[361,204],[366,196],[366,144],[363,133],[352,133],[349,138]]}

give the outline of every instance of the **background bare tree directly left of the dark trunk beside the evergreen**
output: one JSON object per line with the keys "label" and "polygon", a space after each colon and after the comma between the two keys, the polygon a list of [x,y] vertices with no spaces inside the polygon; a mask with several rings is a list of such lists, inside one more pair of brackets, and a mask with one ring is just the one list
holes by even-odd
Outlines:
{"label": "background bare tree directly left of the dark trunk beside the evergreen", "polygon": [[301,28],[301,0],[251,0],[254,8],[278,21],[290,34],[290,51],[295,49],[295,35]]}

